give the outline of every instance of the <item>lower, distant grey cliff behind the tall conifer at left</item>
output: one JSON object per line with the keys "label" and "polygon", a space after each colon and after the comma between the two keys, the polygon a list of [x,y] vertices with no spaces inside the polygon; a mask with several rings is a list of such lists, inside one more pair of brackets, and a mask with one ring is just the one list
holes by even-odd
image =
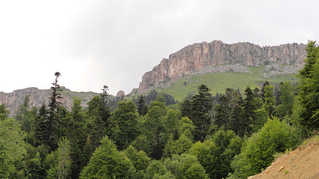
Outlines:
{"label": "lower, distant grey cliff behind the tall conifer at left", "polygon": [[[80,97],[82,99],[81,106],[87,107],[86,103],[89,102],[95,95],[99,94],[92,91],[72,92],[69,89],[62,89],[64,89],[62,91],[63,98],[60,100],[60,102],[69,110],[73,104],[73,96]],[[43,101],[46,105],[48,105],[48,98],[51,92],[51,89],[37,88],[17,89],[10,93],[0,92],[0,104],[5,103],[7,109],[10,111],[10,116],[13,116],[26,95],[30,95],[30,102],[32,103],[31,107],[37,106],[39,108]]]}

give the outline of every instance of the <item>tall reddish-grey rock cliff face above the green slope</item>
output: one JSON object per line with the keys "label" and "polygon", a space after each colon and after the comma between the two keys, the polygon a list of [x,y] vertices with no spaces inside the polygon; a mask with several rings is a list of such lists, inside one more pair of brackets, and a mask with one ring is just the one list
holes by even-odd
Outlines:
{"label": "tall reddish-grey rock cliff face above the green slope", "polygon": [[303,60],[307,57],[305,48],[306,45],[297,43],[264,47],[248,42],[225,44],[217,40],[195,43],[170,54],[168,59],[163,59],[152,71],[145,73],[138,93],[156,87],[168,87],[184,75],[207,66],[227,63],[258,66],[277,63],[303,67]]}

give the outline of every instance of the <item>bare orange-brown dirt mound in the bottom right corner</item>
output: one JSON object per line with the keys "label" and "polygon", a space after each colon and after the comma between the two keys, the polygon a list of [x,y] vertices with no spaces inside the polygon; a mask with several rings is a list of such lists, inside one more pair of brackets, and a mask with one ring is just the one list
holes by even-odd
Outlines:
{"label": "bare orange-brown dirt mound in the bottom right corner", "polygon": [[319,179],[319,142],[299,147],[248,179]]}

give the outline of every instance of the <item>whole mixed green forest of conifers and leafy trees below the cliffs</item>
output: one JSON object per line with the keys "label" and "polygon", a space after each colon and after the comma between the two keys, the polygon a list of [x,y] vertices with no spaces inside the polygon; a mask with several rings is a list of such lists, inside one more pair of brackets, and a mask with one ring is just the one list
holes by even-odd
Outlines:
{"label": "whole mixed green forest of conifers and leafy trees below the cliffs", "polygon": [[200,85],[174,101],[155,90],[109,100],[108,87],[84,108],[61,105],[59,72],[49,104],[16,115],[0,105],[1,179],[247,179],[274,156],[318,135],[319,46],[308,41],[298,83],[225,89]]}

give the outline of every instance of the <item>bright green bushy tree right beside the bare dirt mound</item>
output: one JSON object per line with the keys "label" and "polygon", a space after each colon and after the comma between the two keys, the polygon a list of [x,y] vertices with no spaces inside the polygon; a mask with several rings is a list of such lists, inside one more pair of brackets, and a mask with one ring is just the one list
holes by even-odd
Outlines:
{"label": "bright green bushy tree right beside the bare dirt mound", "polygon": [[294,148],[293,127],[278,118],[269,119],[258,133],[247,139],[241,149],[240,155],[232,163],[232,168],[240,178],[258,174],[273,161],[276,152],[284,152]]}

